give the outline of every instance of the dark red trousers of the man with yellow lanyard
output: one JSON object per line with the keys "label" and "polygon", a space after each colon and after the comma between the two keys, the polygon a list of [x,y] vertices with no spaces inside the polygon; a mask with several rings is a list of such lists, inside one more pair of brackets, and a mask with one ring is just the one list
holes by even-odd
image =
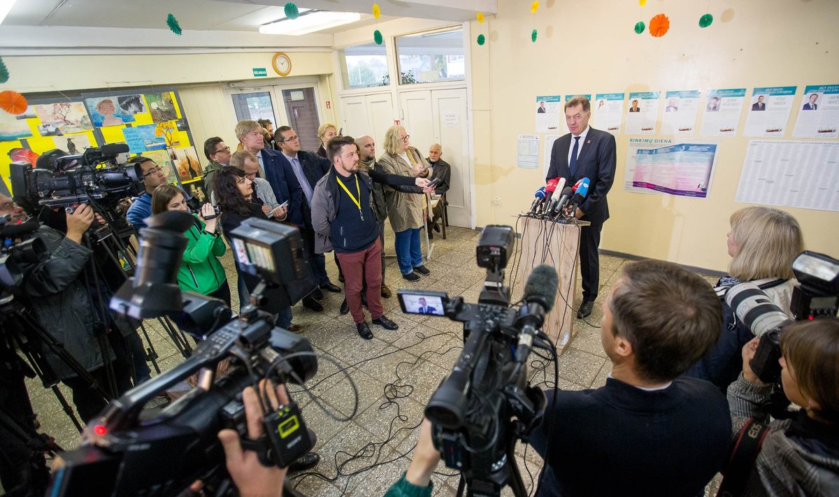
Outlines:
{"label": "dark red trousers of the man with yellow lanyard", "polygon": [[344,272],[344,293],[347,306],[356,324],[364,322],[362,285],[367,280],[367,309],[378,319],[384,314],[382,307],[382,242],[376,238],[369,247],[358,252],[337,254]]}

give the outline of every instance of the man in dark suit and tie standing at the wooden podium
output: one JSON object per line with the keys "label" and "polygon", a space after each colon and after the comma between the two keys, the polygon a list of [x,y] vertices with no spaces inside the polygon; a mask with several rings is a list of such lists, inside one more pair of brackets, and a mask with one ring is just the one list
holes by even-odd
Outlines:
{"label": "man in dark suit and tie standing at the wooden podium", "polygon": [[[586,97],[573,97],[565,102],[565,123],[571,133],[557,139],[550,152],[550,168],[545,180],[565,178],[566,185],[588,178],[588,195],[572,214],[581,221],[591,222],[580,229],[580,271],[582,276],[582,303],[577,317],[591,314],[597,299],[600,282],[600,259],[597,247],[603,222],[609,218],[606,194],[612,188],[617,158],[615,137],[590,128],[591,102]],[[573,144],[572,144],[573,142]]]}

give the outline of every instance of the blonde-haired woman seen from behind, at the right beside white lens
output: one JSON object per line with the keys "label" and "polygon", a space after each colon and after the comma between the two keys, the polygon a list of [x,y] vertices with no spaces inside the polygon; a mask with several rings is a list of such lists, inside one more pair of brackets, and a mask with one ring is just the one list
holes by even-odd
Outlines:
{"label": "blonde-haired woman seen from behind, at the right beside white lens", "polygon": [[726,304],[726,292],[738,283],[757,285],[792,318],[789,310],[795,277],[792,261],[804,251],[804,237],[795,217],[772,207],[745,207],[734,212],[727,233],[728,276],[715,290],[722,301],[722,334],[717,347],[700,360],[689,376],[708,379],[725,391],[743,369],[740,350],[754,338]]}

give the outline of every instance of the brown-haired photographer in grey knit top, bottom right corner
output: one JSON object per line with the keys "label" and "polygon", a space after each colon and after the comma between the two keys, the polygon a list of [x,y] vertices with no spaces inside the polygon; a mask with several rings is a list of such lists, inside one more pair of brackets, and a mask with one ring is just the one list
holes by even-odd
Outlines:
{"label": "brown-haired photographer in grey knit top, bottom right corner", "polygon": [[[761,383],[749,365],[758,341],[743,347],[743,374],[728,387],[735,437],[748,417],[766,418],[773,385]],[[801,411],[769,423],[743,495],[839,494],[839,321],[784,327],[780,348],[781,385]]]}

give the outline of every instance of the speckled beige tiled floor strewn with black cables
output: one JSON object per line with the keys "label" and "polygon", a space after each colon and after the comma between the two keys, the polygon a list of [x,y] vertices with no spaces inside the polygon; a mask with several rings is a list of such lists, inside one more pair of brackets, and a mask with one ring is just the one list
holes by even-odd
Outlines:
{"label": "speckled beige tiled floor strewn with black cables", "polygon": [[[395,260],[388,259],[385,281],[394,295],[383,299],[383,304],[386,315],[399,323],[397,331],[373,327],[373,340],[362,340],[352,318],[341,316],[338,311],[342,294],[325,292],[326,310],[320,313],[300,305],[294,307],[294,322],[305,326],[302,335],[317,351],[331,356],[341,369],[346,369],[358,390],[357,409],[350,421],[336,421],[311,402],[308,395],[295,395],[303,406],[306,423],[317,433],[315,450],[321,457],[313,471],[291,476],[297,489],[311,496],[381,495],[408,467],[425,403],[455,363],[461,351],[462,332],[459,323],[446,318],[402,314],[395,293],[399,288],[445,290],[450,296],[462,295],[467,302],[477,302],[485,277],[484,270],[475,263],[478,236],[479,233],[463,228],[449,228],[446,240],[438,235],[433,240],[432,259],[425,264],[431,275],[416,283],[403,280]],[[386,234],[385,240],[386,251],[393,254],[393,234]],[[226,254],[224,262],[228,279],[235,282],[229,255]],[[560,388],[581,390],[605,384],[611,364],[602,352],[597,328],[602,317],[601,302],[625,262],[625,259],[601,257],[600,298],[591,316],[585,322],[575,323],[576,337],[560,356]],[[327,256],[327,269],[337,284],[331,255]],[[508,283],[509,279],[508,275]],[[235,294],[235,284],[231,286]],[[516,286],[513,301],[518,298],[523,283]],[[576,302],[579,302],[579,284],[577,288]],[[233,300],[237,309],[237,296]],[[159,354],[160,369],[170,369],[180,363],[180,353],[159,326],[149,322],[148,329]],[[318,374],[309,387],[332,416],[347,418],[354,407],[352,386],[344,374],[335,374],[336,371],[335,364],[320,360]],[[531,376],[541,386],[552,383],[553,366],[531,370]],[[61,390],[69,398],[68,390]],[[292,386],[291,390],[300,388]],[[42,430],[63,447],[76,447],[78,434],[51,391],[34,381],[29,384],[29,392]],[[533,479],[529,473],[535,478],[541,460],[532,450],[525,452],[524,447],[517,447],[517,455],[524,483],[530,489]],[[433,477],[435,495],[456,494],[458,477],[447,476],[451,473],[440,464],[439,473]],[[512,492],[505,489],[504,494],[512,495]]]}

